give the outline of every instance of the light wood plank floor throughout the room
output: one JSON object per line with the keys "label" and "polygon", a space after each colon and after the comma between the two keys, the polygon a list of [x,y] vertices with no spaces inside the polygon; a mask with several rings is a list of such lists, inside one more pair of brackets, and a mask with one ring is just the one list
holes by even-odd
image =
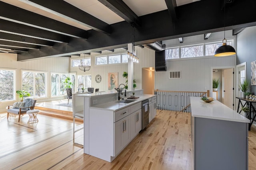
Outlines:
{"label": "light wood plank floor throughout the room", "polygon": [[[157,110],[155,119],[111,163],[72,144],[72,123],[38,114],[0,115],[0,169],[11,170],[192,170],[190,113]],[[78,125],[78,124],[77,124]],[[77,141],[82,140],[82,133]],[[256,169],[256,128],[249,132],[249,169]]]}

